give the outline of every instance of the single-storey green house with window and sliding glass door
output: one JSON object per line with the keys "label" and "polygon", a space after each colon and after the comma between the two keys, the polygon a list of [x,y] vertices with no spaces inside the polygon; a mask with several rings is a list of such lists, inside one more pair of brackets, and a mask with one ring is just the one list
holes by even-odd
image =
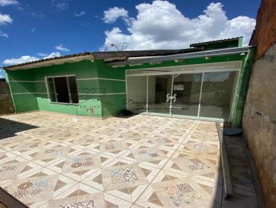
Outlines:
{"label": "single-storey green house with window and sliding glass door", "polygon": [[130,110],[239,126],[252,56],[237,37],[181,50],[84,52],[3,70],[16,112],[107,118]]}

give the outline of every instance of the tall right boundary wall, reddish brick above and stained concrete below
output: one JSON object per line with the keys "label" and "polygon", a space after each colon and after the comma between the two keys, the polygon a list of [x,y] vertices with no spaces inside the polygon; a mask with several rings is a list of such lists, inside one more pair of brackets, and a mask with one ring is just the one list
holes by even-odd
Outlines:
{"label": "tall right boundary wall, reddish brick above and stained concrete below", "polygon": [[255,33],[255,63],[243,118],[266,207],[276,207],[276,1],[262,1]]}

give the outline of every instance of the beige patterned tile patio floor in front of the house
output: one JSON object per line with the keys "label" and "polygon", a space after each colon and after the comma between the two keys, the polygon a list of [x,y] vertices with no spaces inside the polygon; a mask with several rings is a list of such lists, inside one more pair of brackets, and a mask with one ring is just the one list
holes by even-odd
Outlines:
{"label": "beige patterned tile patio floor in front of the house", "polygon": [[0,117],[0,185],[29,207],[220,207],[214,122]]}

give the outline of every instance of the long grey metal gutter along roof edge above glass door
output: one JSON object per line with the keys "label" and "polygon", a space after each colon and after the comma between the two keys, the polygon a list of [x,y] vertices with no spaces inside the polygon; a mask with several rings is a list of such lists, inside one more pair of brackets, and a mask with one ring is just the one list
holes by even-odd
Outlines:
{"label": "long grey metal gutter along roof edge above glass door", "polygon": [[242,54],[242,53],[247,53],[249,49],[250,49],[250,46],[239,47],[239,48],[224,48],[219,50],[190,52],[185,54],[174,54],[174,55],[159,56],[159,57],[142,57],[142,58],[135,58],[135,59],[130,58],[127,61],[115,61],[115,62],[110,62],[106,64],[112,67],[118,67],[118,66],[124,66],[124,65],[137,65],[142,63],[160,63],[162,61],[173,61],[173,60],[183,60],[183,59],[195,59],[195,58],[201,58],[201,57]]}

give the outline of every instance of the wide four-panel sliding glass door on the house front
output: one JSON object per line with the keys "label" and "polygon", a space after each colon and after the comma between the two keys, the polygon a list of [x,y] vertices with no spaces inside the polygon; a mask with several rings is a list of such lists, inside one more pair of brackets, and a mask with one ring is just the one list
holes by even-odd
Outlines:
{"label": "wide four-panel sliding glass door on the house front", "polygon": [[238,71],[128,76],[128,110],[228,121]]}

